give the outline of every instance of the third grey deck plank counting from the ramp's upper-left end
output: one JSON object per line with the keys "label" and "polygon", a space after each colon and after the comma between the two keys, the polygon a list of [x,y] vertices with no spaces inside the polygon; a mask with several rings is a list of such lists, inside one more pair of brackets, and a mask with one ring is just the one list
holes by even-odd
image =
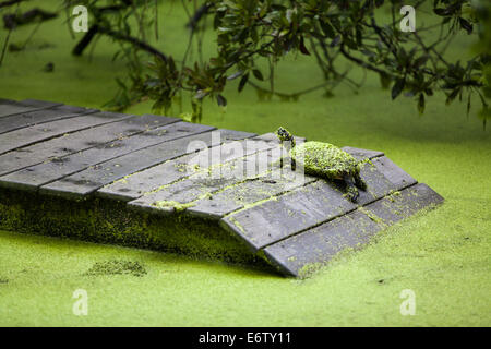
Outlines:
{"label": "third grey deck plank counting from the ramp's upper-left end", "polygon": [[46,141],[64,133],[80,131],[95,125],[110,123],[130,118],[129,115],[115,112],[96,112],[67,120],[41,123],[27,129],[21,129],[2,134],[0,137],[0,154]]}

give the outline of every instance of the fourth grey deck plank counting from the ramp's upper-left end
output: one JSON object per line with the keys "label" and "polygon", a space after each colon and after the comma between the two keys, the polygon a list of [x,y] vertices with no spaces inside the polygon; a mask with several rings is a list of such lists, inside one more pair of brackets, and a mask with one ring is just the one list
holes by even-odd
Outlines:
{"label": "fourth grey deck plank counting from the ramp's upper-left end", "polygon": [[62,136],[36,143],[3,155],[0,155],[0,176],[31,167],[51,158],[81,151],[104,146],[104,144],[124,139],[157,127],[173,123],[180,119],[155,116],[131,117],[109,124],[97,125]]}

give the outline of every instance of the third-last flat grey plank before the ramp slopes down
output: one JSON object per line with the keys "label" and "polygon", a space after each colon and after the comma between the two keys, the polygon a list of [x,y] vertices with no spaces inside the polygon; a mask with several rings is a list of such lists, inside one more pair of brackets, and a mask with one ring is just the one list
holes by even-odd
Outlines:
{"label": "third-last flat grey plank before the ramp slopes down", "polygon": [[[229,140],[227,136],[228,130],[217,130],[221,133],[221,140]],[[250,137],[253,134],[242,134],[240,136]],[[236,132],[233,132],[235,139],[237,139]],[[212,139],[206,140],[206,145],[212,143]],[[255,153],[262,148],[272,147],[271,143],[266,143],[261,140],[248,140],[240,141],[239,144],[243,148],[243,155]],[[214,147],[203,149],[195,154],[188,154],[176,159],[165,161],[160,165],[154,166],[147,170],[136,172],[123,180],[110,183],[97,191],[98,196],[108,197],[112,200],[132,201],[136,200],[145,193],[157,190],[163,185],[170,184],[177,180],[189,177],[188,165],[201,161],[200,158],[206,158],[209,160],[209,165],[214,166],[219,163],[225,163],[233,158],[240,157],[240,152],[235,152],[237,143],[227,142],[221,145],[216,145],[218,152],[215,152]],[[197,159],[197,160],[196,160]]]}

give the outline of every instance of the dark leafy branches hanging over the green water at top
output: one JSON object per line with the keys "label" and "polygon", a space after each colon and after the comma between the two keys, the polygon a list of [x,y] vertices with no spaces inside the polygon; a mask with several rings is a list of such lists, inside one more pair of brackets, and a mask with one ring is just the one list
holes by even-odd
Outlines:
{"label": "dark leafy branches hanging over the green water at top", "polygon": [[[262,98],[296,99],[321,88],[330,96],[340,83],[354,89],[361,85],[345,70],[349,61],[378,74],[392,99],[403,94],[415,98],[421,113],[427,98],[443,91],[447,104],[465,99],[468,111],[471,96],[478,96],[484,125],[490,118],[491,3],[487,0],[414,1],[417,12],[432,12],[432,23],[418,24],[412,33],[400,32],[404,3],[398,0],[180,0],[189,17],[189,45],[179,60],[171,48],[163,52],[151,44],[152,28],[158,39],[158,0],[63,2],[67,9],[84,4],[94,16],[75,55],[100,35],[120,44],[117,56],[127,60],[129,79],[119,81],[120,91],[111,103],[116,108],[151,99],[155,109],[168,109],[188,93],[192,119],[200,121],[205,98],[227,105],[224,89],[232,80],[238,81],[239,92],[249,86]],[[388,21],[383,15],[387,11]],[[205,58],[203,33],[211,31],[217,50]],[[450,61],[445,50],[459,33],[478,43],[476,53],[468,61]],[[191,60],[193,45],[199,57]],[[280,93],[275,88],[275,67],[295,52],[308,56],[324,82]]]}

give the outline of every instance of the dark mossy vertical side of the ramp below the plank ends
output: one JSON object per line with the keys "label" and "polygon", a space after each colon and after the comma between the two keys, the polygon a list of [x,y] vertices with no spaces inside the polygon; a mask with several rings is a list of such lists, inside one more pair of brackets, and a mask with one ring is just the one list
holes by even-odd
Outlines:
{"label": "dark mossy vertical side of the ramp below the plank ends", "polygon": [[75,202],[0,189],[0,228],[271,268],[217,221],[133,212],[107,198]]}

